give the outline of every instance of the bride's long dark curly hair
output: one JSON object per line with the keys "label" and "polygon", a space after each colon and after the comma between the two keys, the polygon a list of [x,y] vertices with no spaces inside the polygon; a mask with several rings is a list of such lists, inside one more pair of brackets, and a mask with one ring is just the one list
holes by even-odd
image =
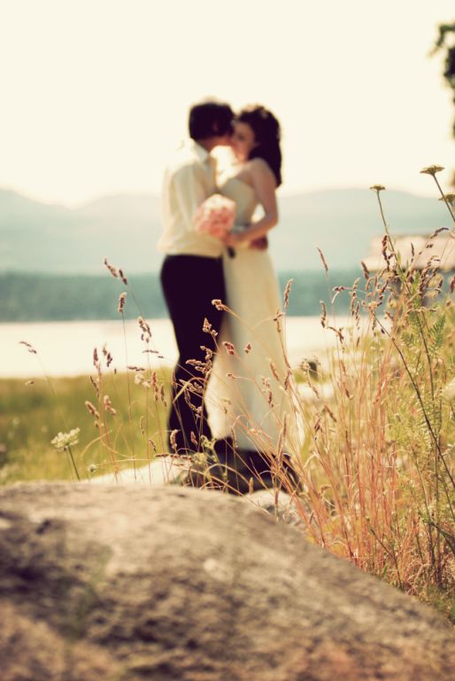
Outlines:
{"label": "bride's long dark curly hair", "polygon": [[235,121],[247,123],[254,132],[257,145],[251,150],[250,159],[264,159],[272,169],[276,186],[281,184],[280,123],[265,106],[245,106],[235,116]]}

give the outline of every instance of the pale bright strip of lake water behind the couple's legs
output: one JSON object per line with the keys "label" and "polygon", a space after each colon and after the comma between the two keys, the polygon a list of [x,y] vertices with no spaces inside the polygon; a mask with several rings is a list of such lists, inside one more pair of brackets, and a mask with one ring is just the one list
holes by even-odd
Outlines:
{"label": "pale bright strip of lake water behind the couple's legs", "polygon": [[[346,324],[338,318],[338,325]],[[174,364],[177,359],[174,332],[168,319],[149,320],[152,348],[160,356],[150,355],[155,363]],[[286,337],[289,361],[297,365],[306,356],[320,352],[334,343],[335,334],[320,325],[320,317],[288,317]],[[20,341],[30,343],[31,354]],[[0,324],[0,378],[37,378],[77,376],[93,369],[93,350],[106,344],[113,356],[112,366],[125,371],[126,366],[144,365],[143,341],[136,321],[35,322]]]}

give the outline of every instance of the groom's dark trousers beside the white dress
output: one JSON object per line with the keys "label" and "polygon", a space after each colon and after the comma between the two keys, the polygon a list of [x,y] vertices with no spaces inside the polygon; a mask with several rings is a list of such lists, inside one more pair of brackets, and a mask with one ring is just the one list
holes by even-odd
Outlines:
{"label": "groom's dark trousers beside the white dress", "polygon": [[[213,330],[220,331],[223,312],[212,305],[212,300],[226,301],[222,260],[198,255],[167,255],[161,269],[161,286],[179,348],[167,427],[169,434],[177,431],[174,442],[179,453],[184,454],[200,450],[202,435],[212,438],[204,395],[201,394],[205,388],[204,373],[197,372],[187,362],[204,362],[205,351],[201,346],[215,350],[215,340],[203,331],[203,325],[206,318]],[[187,389],[182,389],[187,381],[190,381]],[[196,392],[188,389],[191,384]]]}

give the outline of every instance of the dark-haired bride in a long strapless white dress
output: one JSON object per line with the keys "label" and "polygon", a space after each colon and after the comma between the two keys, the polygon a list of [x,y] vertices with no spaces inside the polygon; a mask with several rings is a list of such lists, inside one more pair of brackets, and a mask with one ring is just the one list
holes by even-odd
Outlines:
{"label": "dark-haired bride in a long strapless white dress", "polygon": [[[210,421],[217,444],[228,442],[250,457],[258,452],[270,463],[286,440],[289,448],[292,412],[281,295],[266,250],[266,235],[278,223],[280,124],[264,106],[245,107],[235,118],[231,146],[235,162],[218,188],[235,201],[235,230],[225,238],[228,311],[209,387]],[[258,207],[262,216],[255,219]],[[258,467],[258,457],[254,462]]]}

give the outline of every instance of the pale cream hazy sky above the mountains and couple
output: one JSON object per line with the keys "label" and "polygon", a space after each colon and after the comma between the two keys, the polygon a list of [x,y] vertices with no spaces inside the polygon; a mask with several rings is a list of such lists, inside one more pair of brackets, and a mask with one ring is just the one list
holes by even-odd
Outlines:
{"label": "pale cream hazy sky above the mountains and couple", "polygon": [[455,168],[453,0],[0,0],[0,187],[77,205],[158,192],[189,105],[260,102],[284,185],[432,194]]}

